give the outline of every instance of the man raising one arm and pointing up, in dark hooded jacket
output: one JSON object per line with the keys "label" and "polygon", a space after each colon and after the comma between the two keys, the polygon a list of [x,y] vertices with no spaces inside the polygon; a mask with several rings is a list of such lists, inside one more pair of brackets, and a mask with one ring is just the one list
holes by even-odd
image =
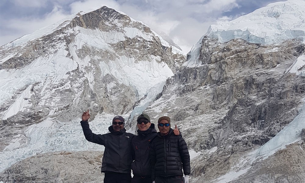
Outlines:
{"label": "man raising one arm and pointing up, in dark hooded jacket", "polygon": [[89,110],[82,115],[81,127],[85,138],[89,142],[105,146],[102,160],[102,172],[105,173],[104,183],[130,183],[132,150],[131,133],[126,133],[124,128],[125,120],[121,116],[116,116],[112,120],[112,125],[108,128],[111,133],[94,134],[89,128]]}

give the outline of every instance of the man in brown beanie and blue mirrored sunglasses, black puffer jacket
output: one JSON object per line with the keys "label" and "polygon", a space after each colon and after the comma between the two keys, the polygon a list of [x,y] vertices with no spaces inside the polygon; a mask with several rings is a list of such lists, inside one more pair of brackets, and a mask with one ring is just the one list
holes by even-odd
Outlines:
{"label": "man in brown beanie and blue mirrored sunglasses, black puffer jacket", "polygon": [[191,166],[185,140],[182,136],[173,134],[170,118],[167,116],[159,118],[158,128],[160,132],[150,144],[153,182],[188,183]]}

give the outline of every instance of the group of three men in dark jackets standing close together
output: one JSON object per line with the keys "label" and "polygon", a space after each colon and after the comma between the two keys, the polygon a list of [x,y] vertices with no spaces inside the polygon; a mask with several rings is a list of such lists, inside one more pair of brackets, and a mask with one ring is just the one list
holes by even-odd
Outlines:
{"label": "group of three men in dark jackets standing close together", "polygon": [[105,172],[104,183],[181,183],[184,182],[182,166],[185,183],[188,183],[190,158],[187,145],[177,126],[170,128],[169,117],[159,118],[160,132],[157,133],[149,116],[141,114],[137,118],[138,136],[126,133],[125,120],[121,116],[113,118],[112,126],[108,128],[111,133],[96,135],[89,128],[89,118],[88,110],[82,115],[81,126],[89,142],[105,146],[101,170]]}

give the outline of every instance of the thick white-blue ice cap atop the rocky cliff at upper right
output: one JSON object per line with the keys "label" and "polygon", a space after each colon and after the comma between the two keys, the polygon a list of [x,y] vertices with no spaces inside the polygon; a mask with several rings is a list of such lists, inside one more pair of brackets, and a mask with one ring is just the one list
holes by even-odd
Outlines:
{"label": "thick white-blue ice cap atop the rocky cliff at upper right", "polygon": [[273,44],[305,38],[305,1],[275,2],[227,23],[211,25],[206,36],[228,42],[243,39],[251,43]]}

